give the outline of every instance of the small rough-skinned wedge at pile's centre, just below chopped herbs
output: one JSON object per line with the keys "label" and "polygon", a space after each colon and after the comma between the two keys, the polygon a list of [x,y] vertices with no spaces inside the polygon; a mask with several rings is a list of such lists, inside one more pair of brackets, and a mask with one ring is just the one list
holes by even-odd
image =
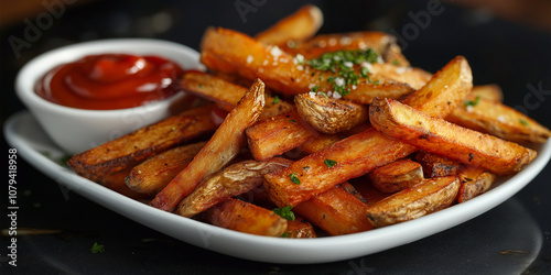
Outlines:
{"label": "small rough-skinned wedge at pile's centre, just below chopped herbs", "polygon": [[294,103],[304,121],[326,134],[348,131],[368,119],[366,106],[314,92],[296,95]]}

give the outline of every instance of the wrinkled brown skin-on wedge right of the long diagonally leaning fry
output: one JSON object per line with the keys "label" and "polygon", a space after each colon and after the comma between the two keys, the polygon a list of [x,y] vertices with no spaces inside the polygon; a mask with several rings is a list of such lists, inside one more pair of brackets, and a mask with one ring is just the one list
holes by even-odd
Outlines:
{"label": "wrinkled brown skin-on wedge right of the long diagonally leaning fry", "polygon": [[206,177],[179,205],[176,213],[191,218],[234,196],[262,185],[266,173],[287,167],[292,162],[272,158],[267,162],[245,161],[230,165]]}

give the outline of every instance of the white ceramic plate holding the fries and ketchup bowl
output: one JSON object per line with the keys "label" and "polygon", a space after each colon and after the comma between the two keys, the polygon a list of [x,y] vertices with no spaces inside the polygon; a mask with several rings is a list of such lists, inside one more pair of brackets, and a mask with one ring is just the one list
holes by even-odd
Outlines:
{"label": "white ceramic plate holding the fries and ketchup bowl", "polygon": [[48,152],[50,157],[55,158],[63,153],[26,111],[17,113],[7,121],[4,134],[20,156],[69,190],[186,243],[236,257],[270,263],[306,264],[347,260],[435,234],[510,198],[543,169],[551,156],[551,142],[548,141],[537,147],[538,157],[530,165],[515,176],[500,178],[491,190],[417,220],[350,235],[293,240],[245,234],[186,219],[129,199],[79,177],[44,155],[43,152]]}

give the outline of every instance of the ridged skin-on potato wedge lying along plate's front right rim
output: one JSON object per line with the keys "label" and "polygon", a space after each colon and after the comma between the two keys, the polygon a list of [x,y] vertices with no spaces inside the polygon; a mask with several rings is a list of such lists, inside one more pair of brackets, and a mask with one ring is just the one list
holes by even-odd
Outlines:
{"label": "ridged skin-on potato wedge lying along plate's front right rim", "polygon": [[375,228],[413,220],[452,205],[458,189],[457,176],[428,178],[368,207],[366,213]]}

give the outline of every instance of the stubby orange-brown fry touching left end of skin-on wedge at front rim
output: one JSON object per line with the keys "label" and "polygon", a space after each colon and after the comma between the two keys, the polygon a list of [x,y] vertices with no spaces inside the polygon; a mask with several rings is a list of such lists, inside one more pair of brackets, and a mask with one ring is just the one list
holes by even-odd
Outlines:
{"label": "stubby orange-brown fry touching left end of skin-on wedge at front rim", "polygon": [[367,206],[341,186],[299,204],[292,210],[331,235],[372,229],[365,215]]}

